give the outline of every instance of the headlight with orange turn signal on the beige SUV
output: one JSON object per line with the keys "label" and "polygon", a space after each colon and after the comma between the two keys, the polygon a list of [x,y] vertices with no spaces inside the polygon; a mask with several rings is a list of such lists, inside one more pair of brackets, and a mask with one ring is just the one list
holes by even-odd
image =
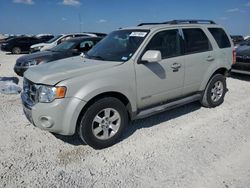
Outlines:
{"label": "headlight with orange turn signal on the beige SUV", "polygon": [[53,87],[42,85],[38,89],[38,101],[41,103],[49,103],[55,99],[64,98],[66,87]]}

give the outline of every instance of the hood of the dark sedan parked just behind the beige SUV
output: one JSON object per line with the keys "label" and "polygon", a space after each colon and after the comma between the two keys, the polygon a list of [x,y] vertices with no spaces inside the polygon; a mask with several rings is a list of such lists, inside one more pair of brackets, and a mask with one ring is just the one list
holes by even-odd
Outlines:
{"label": "hood of the dark sedan parked just behind the beige SUV", "polygon": [[51,51],[36,52],[33,54],[23,55],[23,56],[19,57],[17,59],[17,62],[23,63],[23,62],[27,62],[27,61],[37,59],[37,58],[48,60],[55,54],[56,54],[56,52],[51,52]]}

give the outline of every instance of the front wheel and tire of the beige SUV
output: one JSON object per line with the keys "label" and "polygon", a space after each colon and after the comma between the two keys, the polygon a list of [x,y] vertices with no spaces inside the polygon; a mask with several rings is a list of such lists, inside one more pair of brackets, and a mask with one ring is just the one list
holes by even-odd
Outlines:
{"label": "front wheel and tire of the beige SUV", "polygon": [[95,149],[114,145],[128,123],[124,104],[113,97],[99,99],[84,113],[79,127],[80,138]]}

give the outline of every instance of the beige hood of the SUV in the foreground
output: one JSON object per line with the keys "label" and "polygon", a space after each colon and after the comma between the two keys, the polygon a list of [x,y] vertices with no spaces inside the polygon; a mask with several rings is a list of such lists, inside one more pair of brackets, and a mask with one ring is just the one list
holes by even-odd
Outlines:
{"label": "beige hood of the SUV in the foreground", "polygon": [[103,71],[122,63],[77,56],[31,67],[24,73],[24,77],[37,84],[55,85],[72,77]]}

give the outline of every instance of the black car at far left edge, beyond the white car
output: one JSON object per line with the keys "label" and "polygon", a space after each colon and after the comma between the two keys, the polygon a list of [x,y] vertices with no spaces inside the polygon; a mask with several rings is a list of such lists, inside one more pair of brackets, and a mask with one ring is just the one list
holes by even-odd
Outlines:
{"label": "black car at far left edge, beyond the white car", "polygon": [[41,40],[36,37],[20,36],[6,40],[1,45],[1,50],[11,52],[13,54],[20,54],[29,52],[30,46],[40,43]]}

